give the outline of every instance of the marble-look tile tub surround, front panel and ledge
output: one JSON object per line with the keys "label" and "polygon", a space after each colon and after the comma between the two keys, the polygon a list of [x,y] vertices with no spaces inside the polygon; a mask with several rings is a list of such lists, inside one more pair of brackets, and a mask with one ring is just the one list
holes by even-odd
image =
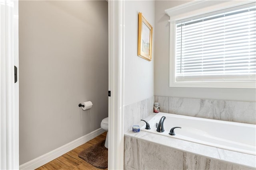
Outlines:
{"label": "marble-look tile tub surround, front panel and ledge", "polygon": [[[169,164],[172,159],[175,161]],[[128,131],[124,137],[124,169],[250,170],[256,169],[256,156],[145,131]]]}

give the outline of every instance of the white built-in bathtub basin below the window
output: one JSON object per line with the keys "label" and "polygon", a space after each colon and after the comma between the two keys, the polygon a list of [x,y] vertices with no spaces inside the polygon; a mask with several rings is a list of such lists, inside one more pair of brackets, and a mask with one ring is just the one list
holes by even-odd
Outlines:
{"label": "white built-in bathtub basin below the window", "polygon": [[[156,123],[165,116],[164,132],[156,131]],[[170,138],[182,139],[221,149],[256,155],[256,125],[204,119],[170,113],[157,113],[150,121],[150,130],[144,125],[140,130]],[[172,127],[176,128],[175,136],[169,135]]]}

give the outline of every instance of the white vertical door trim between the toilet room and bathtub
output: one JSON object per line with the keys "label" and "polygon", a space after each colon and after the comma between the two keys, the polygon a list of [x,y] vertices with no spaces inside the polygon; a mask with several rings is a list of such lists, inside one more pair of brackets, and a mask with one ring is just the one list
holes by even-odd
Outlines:
{"label": "white vertical door trim between the toilet room and bathtub", "polygon": [[108,169],[124,168],[124,0],[108,1]]}

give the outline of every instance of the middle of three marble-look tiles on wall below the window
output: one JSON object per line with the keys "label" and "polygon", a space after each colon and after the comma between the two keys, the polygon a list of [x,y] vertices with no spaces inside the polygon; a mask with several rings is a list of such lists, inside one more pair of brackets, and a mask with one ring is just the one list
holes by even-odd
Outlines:
{"label": "middle of three marble-look tiles on wall below the window", "polygon": [[213,100],[169,97],[169,112],[202,118],[213,118]]}

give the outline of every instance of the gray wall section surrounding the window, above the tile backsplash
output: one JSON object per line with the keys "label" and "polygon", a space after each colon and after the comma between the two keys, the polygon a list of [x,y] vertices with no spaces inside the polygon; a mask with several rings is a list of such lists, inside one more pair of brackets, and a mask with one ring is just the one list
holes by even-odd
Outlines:
{"label": "gray wall section surrounding the window, above the tile backsplash", "polygon": [[184,98],[256,101],[256,89],[238,88],[170,88],[169,87],[169,36],[170,17],[164,10],[189,1],[155,1],[155,65],[154,95]]}

